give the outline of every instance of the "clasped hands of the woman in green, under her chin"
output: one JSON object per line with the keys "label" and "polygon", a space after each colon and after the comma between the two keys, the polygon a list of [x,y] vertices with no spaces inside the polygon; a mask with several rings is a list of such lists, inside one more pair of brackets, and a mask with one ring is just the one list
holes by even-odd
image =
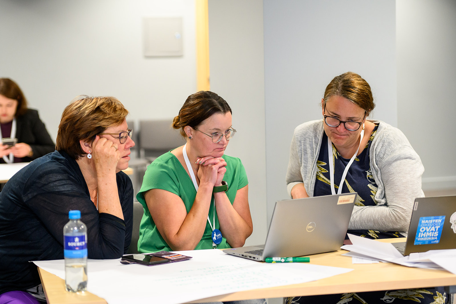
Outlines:
{"label": "clasped hands of the woman in green, under her chin", "polygon": [[204,156],[197,158],[198,178],[200,185],[208,183],[213,186],[222,185],[223,176],[225,175],[226,161],[222,157]]}

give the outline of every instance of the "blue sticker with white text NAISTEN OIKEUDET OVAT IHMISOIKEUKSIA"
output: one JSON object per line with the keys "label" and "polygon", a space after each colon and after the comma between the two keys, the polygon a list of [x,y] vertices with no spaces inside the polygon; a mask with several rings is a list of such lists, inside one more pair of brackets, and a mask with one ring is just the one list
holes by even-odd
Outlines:
{"label": "blue sticker with white text NAISTEN OIKEUDET OVAT IHMISOIKEUKSIA", "polygon": [[437,244],[442,235],[445,216],[422,216],[416,229],[415,245]]}

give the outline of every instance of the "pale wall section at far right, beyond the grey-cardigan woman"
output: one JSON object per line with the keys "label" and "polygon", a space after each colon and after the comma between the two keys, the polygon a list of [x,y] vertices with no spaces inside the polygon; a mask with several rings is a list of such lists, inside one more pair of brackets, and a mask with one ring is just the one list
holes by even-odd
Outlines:
{"label": "pale wall section at far right, beyond the grey-cardigan woman", "polygon": [[456,188],[456,1],[397,0],[399,129],[420,155],[423,189]]}

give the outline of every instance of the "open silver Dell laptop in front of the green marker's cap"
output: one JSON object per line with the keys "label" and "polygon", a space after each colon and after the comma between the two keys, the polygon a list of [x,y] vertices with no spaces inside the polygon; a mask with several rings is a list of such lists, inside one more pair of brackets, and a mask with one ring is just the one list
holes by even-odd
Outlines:
{"label": "open silver Dell laptop in front of the green marker's cap", "polygon": [[277,201],[264,245],[223,252],[264,261],[339,250],[357,196],[354,192]]}

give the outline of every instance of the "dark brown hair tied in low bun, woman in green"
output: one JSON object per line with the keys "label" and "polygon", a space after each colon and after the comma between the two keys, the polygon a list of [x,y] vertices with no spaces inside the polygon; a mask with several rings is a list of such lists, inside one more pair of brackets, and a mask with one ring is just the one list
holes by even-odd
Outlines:
{"label": "dark brown hair tied in low bun, woman in green", "polygon": [[232,113],[225,99],[210,91],[200,91],[187,97],[179,115],[174,118],[172,127],[181,129],[181,135],[187,137],[184,131],[185,126],[196,128],[213,114],[225,114],[228,111]]}

